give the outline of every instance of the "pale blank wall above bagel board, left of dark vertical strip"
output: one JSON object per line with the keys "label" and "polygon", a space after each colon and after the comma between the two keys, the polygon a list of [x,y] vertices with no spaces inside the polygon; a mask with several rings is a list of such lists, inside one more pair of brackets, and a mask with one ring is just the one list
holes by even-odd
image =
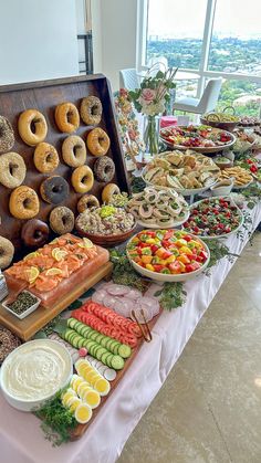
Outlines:
{"label": "pale blank wall above bagel board, left of dark vertical strip", "polygon": [[0,84],[79,74],[74,1],[0,3]]}

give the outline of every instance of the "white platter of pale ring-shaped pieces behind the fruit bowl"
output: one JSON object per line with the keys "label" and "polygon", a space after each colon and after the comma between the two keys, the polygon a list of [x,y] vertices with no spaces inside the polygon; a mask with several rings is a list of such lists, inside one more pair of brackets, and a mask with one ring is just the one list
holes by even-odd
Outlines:
{"label": "white platter of pale ring-shaped pieces behind the fruit bowl", "polygon": [[189,217],[188,203],[179,193],[155,187],[134,193],[126,208],[138,224],[156,229],[178,227]]}

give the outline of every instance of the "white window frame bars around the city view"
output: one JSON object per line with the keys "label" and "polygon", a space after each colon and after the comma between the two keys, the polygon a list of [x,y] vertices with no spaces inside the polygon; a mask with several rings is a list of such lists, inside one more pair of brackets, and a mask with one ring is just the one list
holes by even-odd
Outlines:
{"label": "white window frame bars around the city view", "polygon": [[[145,64],[146,59],[146,43],[147,43],[147,15],[148,15],[148,1],[149,0],[137,0],[137,48],[136,48],[136,67],[137,70],[145,71],[148,69]],[[237,74],[237,73],[226,73],[219,71],[208,71],[208,60],[209,52],[211,46],[211,38],[213,31],[213,20],[216,11],[217,0],[207,0],[207,10],[205,17],[205,27],[203,27],[203,38],[202,38],[202,49],[201,49],[201,59],[199,64],[199,70],[188,70],[185,67],[179,67],[180,71],[194,74],[197,72],[199,74],[197,97],[199,98],[202,95],[205,88],[205,82],[210,77],[223,77],[225,80],[232,81],[248,81],[257,82],[261,85],[261,76],[252,74]]]}

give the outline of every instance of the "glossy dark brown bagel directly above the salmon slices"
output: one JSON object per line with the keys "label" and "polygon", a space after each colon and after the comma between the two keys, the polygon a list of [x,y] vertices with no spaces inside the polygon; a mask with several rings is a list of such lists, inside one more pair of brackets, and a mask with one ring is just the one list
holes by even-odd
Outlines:
{"label": "glossy dark brown bagel directly above the salmon slices", "polygon": [[31,219],[22,225],[21,239],[23,244],[29,248],[40,248],[46,243],[49,238],[49,227],[39,219]]}

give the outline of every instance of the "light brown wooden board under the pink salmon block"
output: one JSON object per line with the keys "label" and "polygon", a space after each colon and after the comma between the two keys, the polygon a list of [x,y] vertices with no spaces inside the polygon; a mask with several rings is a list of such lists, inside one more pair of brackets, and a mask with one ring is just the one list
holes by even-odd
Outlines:
{"label": "light brown wooden board under the pink salmon block", "polygon": [[7,312],[0,304],[0,324],[4,325],[8,329],[18,335],[22,340],[27,341],[83,293],[93,287],[102,278],[108,276],[112,273],[112,263],[107,262],[93,275],[88,276],[86,281],[76,285],[63,298],[59,299],[51,309],[44,308],[40,305],[35,312],[24,319],[17,318],[14,315],[10,314],[10,312]]}

